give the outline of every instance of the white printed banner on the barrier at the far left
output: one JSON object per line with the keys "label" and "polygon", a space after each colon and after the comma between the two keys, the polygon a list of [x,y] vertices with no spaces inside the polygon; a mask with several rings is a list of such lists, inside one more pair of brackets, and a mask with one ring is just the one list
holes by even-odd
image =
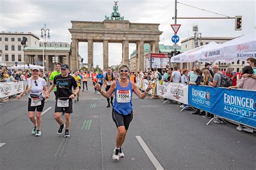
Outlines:
{"label": "white printed banner on the barrier at the far left", "polygon": [[24,90],[24,82],[2,82],[0,83],[0,98],[22,93]]}

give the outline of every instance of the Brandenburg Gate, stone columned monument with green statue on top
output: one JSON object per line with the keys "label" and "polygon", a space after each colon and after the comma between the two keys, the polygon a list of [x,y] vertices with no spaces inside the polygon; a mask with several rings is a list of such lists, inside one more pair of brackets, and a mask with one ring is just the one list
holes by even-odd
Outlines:
{"label": "Brandenburg Gate, stone columned monument with green statue on top", "polygon": [[[103,68],[109,67],[109,42],[122,43],[122,63],[129,65],[129,43],[136,44],[136,70],[144,70],[144,44],[150,44],[150,52],[159,53],[159,24],[130,23],[122,20],[117,4],[111,19],[105,16],[103,22],[86,22],[72,20],[69,29],[72,37],[70,65],[78,68],[78,42],[87,42],[88,69],[93,70],[93,42],[103,42]],[[116,8],[116,9],[115,9]],[[119,16],[114,16],[115,14]],[[113,19],[116,18],[116,19]]]}

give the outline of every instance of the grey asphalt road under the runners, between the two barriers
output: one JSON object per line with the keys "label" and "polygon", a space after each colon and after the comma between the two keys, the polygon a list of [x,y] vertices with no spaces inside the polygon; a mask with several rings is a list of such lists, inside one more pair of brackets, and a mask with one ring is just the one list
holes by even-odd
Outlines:
{"label": "grey asphalt road under the runners, between the two barriers", "polygon": [[152,157],[164,169],[256,169],[256,133],[237,131],[232,124],[206,125],[209,119],[180,112],[177,104],[135,95],[125,157],[114,161],[112,108],[94,94],[91,82],[80,94],[73,103],[69,138],[57,134],[53,95],[45,103],[41,137],[31,134],[27,96],[0,104],[0,169],[156,169]]}

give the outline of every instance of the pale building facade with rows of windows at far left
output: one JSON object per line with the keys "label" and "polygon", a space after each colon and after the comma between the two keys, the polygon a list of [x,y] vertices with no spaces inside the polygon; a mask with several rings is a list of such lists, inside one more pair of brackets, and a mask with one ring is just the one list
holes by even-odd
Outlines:
{"label": "pale building facade with rows of windows at far left", "polygon": [[0,50],[2,50],[2,61],[6,66],[24,64],[24,52],[21,44],[22,38],[26,37],[26,46],[39,47],[39,38],[31,32],[0,32]]}

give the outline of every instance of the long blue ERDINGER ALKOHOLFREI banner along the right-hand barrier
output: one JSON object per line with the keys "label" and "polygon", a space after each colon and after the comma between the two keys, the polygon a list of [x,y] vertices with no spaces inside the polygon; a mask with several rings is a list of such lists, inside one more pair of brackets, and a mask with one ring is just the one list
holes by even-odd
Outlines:
{"label": "long blue ERDINGER ALKOHOLFREI banner along the right-hand barrier", "polygon": [[189,86],[188,104],[256,128],[256,91]]}

